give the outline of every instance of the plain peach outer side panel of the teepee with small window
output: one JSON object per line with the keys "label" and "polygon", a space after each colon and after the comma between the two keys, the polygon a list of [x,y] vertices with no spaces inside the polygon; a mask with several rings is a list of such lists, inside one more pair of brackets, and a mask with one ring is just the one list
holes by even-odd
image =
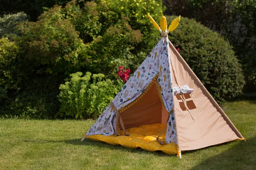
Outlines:
{"label": "plain peach outer side panel of the teepee with small window", "polygon": [[178,147],[195,150],[243,138],[171,42],[169,47],[173,86],[187,84],[194,89],[191,98],[183,97],[192,110],[180,107],[183,100],[179,96],[174,97]]}

